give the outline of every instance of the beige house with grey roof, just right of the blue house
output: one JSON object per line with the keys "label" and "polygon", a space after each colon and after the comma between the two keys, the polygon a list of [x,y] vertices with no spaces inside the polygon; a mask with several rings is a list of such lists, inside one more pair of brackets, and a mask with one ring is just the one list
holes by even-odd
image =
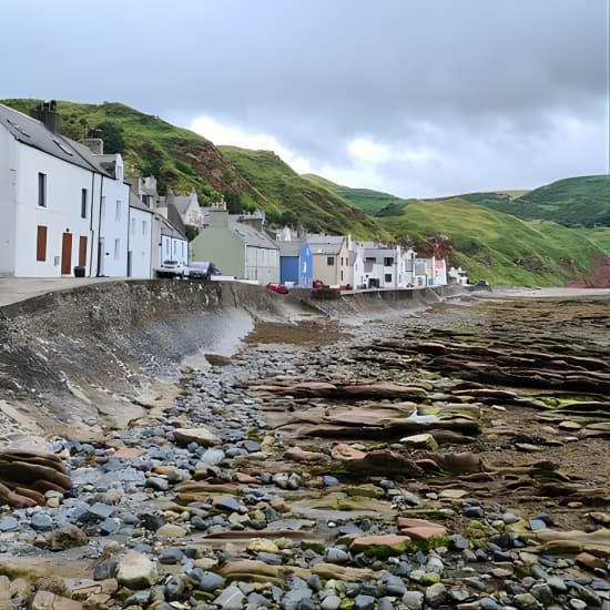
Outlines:
{"label": "beige house with grey roof, just right of the blue house", "polygon": [[332,287],[344,286],[353,282],[349,253],[349,235],[307,235],[314,262],[314,282],[316,279]]}

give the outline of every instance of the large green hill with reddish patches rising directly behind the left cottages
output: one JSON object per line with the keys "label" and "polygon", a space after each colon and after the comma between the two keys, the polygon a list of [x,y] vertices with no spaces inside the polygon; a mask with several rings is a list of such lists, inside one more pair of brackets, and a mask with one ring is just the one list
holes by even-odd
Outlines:
{"label": "large green hill with reddish patches rising directly behind the left cottages", "polygon": [[[35,100],[2,100],[29,113]],[[258,209],[272,224],[301,223],[312,231],[385,236],[376,222],[331,191],[302,179],[278,156],[265,151],[226,149],[201,135],[124,104],[58,102],[61,132],[82,140],[99,130],[105,152],[121,152],[128,175],[155,175],[161,193],[195,189],[200,203],[223,193],[233,212]]]}

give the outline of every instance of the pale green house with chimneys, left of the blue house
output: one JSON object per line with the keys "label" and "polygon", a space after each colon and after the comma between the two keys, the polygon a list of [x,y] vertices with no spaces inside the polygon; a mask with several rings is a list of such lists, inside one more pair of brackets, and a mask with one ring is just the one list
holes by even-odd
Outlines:
{"label": "pale green house with chimneys, left of the blue house", "polygon": [[258,213],[228,214],[210,209],[209,224],[191,243],[193,262],[210,261],[223,275],[265,285],[279,282],[279,248],[263,228]]}

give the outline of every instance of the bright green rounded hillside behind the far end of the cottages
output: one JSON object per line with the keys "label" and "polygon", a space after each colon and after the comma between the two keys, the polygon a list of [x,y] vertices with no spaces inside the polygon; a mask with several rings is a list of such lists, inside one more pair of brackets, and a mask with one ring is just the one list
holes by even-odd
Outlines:
{"label": "bright green rounded hillside behind the far end of the cottages", "polygon": [[394,235],[421,244],[433,233],[449,237],[451,263],[472,279],[495,285],[553,286],[587,281],[604,260],[579,232],[548,221],[525,222],[460,199],[420,201],[379,218]]}

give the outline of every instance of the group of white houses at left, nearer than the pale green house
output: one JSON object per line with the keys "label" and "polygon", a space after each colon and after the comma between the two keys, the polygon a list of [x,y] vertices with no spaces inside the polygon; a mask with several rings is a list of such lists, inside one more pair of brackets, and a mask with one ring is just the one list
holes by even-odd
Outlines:
{"label": "group of white houses at left, nearer than the pale green house", "polygon": [[154,180],[125,176],[101,140],[60,135],[54,102],[34,114],[0,104],[0,275],[152,277],[164,260],[187,264]]}

